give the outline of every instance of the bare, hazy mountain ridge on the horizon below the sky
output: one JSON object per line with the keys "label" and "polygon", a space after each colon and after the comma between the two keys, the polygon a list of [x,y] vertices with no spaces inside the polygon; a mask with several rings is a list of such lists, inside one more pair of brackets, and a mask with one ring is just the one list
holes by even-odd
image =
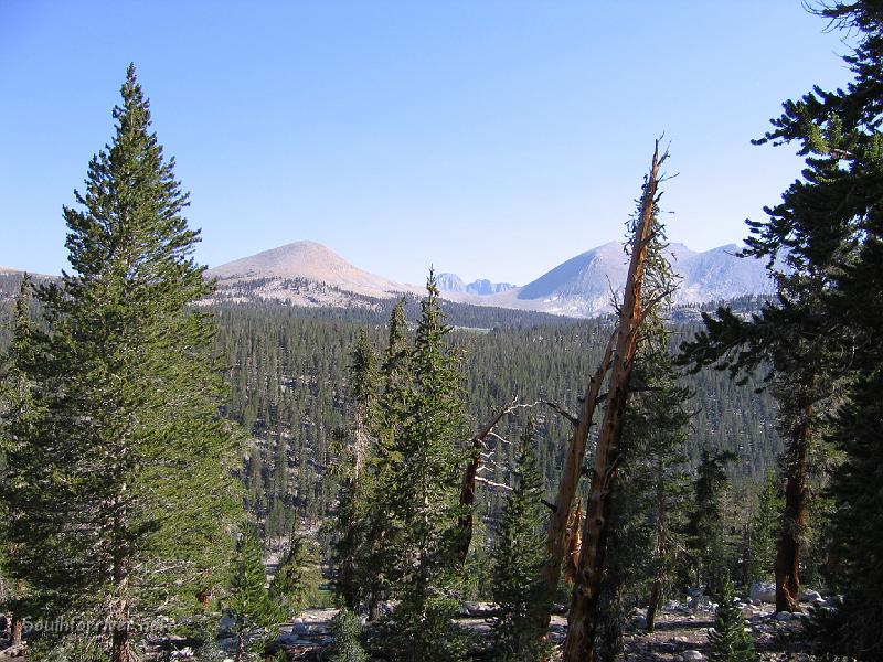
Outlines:
{"label": "bare, hazy mountain ridge on the horizon below the sky", "polygon": [[[740,258],[726,244],[695,252],[672,243],[666,249],[681,277],[675,303],[704,303],[743,295],[769,295],[774,284],[760,260]],[[568,317],[609,312],[621,296],[628,270],[623,244],[608,242],[515,287],[478,279],[466,285],[456,274],[439,274],[443,298],[460,303],[513,308]],[[364,271],[316,242],[301,241],[209,269],[219,295],[228,301],[253,298],[299,306],[360,306],[359,297],[387,299],[423,293],[412,285]],[[348,292],[357,297],[348,297]]]}

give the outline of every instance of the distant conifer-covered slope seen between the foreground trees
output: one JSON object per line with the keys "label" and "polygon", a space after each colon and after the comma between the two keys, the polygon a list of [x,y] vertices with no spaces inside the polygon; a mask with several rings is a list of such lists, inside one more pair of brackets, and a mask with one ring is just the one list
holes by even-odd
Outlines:
{"label": "distant conifer-covered slope seen between the foreground trees", "polygon": [[[9,337],[11,300],[17,276],[3,276],[0,291],[0,343]],[[756,300],[736,302],[751,309]],[[217,351],[225,356],[230,384],[226,416],[243,429],[242,479],[248,508],[266,523],[268,537],[285,535],[296,520],[318,522],[333,508],[337,479],[330,471],[336,440],[345,439],[347,374],[360,329],[382,348],[394,301],[376,300],[365,308],[298,308],[278,303],[215,305]],[[417,318],[417,301],[406,302],[408,321]],[[550,402],[576,412],[587,375],[595,370],[609,335],[604,318],[573,320],[503,309],[445,303],[458,327],[454,342],[461,352],[464,392],[470,423],[478,428],[503,405]],[[672,343],[692,338],[696,308],[672,316]],[[460,328],[461,327],[461,328]],[[736,485],[763,479],[775,465],[781,445],[775,431],[775,407],[759,383],[736,385],[725,373],[701,371],[684,377],[694,393],[688,445],[691,463],[706,445],[735,450]],[[539,466],[551,494],[560,476],[570,423],[544,404],[536,417]],[[510,416],[498,427],[517,439],[521,421]],[[485,478],[507,482],[514,446],[499,442]],[[752,490],[753,491],[753,490]],[[500,495],[482,490],[486,515],[496,515]]]}

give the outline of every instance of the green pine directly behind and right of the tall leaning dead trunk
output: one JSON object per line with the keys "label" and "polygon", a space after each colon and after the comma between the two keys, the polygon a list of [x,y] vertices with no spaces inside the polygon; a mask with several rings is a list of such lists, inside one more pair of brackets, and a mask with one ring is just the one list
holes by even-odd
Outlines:
{"label": "green pine directly behind and right of the tall leaning dead trunk", "polygon": [[[657,254],[658,255],[658,254]],[[657,291],[672,291],[677,278],[667,264],[651,263]],[[623,429],[619,483],[611,495],[608,560],[602,581],[596,658],[613,661],[634,608],[647,605],[647,630],[678,566],[688,505],[684,447],[689,391],[678,384],[663,311],[645,321],[635,357],[631,395]],[[645,601],[646,600],[646,601]]]}

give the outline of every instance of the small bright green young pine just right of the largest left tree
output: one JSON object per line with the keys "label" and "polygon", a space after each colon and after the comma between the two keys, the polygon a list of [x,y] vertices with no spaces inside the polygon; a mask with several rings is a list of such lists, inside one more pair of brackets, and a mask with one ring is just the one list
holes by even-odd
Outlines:
{"label": "small bright green young pine just right of the largest left tree", "polygon": [[248,659],[249,642],[255,637],[259,637],[263,650],[265,640],[276,633],[275,626],[283,618],[278,604],[267,591],[267,570],[262,559],[260,544],[251,532],[240,541],[225,608],[233,618],[236,662]]}

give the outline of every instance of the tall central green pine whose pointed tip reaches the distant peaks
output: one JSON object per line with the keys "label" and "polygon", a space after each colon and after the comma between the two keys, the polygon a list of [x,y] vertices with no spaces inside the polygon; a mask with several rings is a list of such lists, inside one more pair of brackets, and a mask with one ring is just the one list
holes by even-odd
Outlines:
{"label": "tall central green pine whose pointed tip reaches the distant peaks", "polygon": [[[401,604],[390,624],[396,660],[460,660],[466,642],[451,622],[458,604],[457,523],[467,439],[459,357],[430,271],[411,353],[411,383],[393,433],[385,565]],[[396,401],[398,402],[398,401]]]}

